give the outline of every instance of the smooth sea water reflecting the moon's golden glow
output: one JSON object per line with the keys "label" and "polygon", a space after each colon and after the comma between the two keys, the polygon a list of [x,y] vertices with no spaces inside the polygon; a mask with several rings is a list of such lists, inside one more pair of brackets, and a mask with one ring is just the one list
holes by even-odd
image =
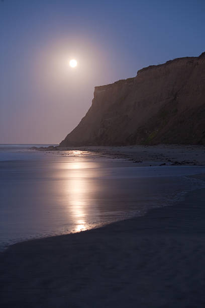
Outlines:
{"label": "smooth sea water reflecting the moon's golden glow", "polygon": [[89,151],[0,145],[0,248],[79,232],[170,205],[204,182],[204,167],[135,167]]}

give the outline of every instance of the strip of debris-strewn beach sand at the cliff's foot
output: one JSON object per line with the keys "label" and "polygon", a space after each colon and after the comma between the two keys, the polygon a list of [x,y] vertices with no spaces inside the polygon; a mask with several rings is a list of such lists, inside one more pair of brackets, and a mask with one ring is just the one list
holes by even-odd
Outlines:
{"label": "strip of debris-strewn beach sand at the cliff's foot", "polygon": [[127,146],[49,146],[43,151],[90,151],[113,159],[132,161],[136,166],[205,166],[204,145],[158,144]]}

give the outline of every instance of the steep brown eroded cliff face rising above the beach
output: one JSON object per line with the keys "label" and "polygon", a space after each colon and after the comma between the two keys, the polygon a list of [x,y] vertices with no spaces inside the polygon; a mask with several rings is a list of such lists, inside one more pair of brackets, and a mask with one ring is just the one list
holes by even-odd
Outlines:
{"label": "steep brown eroded cliff face rising above the beach", "polygon": [[95,87],[92,105],[60,146],[205,144],[205,52]]}

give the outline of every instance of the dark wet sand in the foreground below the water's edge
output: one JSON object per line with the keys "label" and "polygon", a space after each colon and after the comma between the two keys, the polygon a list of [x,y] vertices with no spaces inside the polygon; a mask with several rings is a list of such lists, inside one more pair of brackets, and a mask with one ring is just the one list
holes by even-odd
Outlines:
{"label": "dark wet sand in the foreground below the water's edge", "polygon": [[204,204],[202,188],[142,217],[11,246],[1,307],[204,307]]}

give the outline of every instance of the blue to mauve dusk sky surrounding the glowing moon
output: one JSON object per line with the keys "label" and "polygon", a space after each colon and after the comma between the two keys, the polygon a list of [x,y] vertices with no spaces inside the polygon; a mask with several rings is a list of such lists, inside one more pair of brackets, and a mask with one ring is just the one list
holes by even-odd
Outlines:
{"label": "blue to mauve dusk sky surrounding the glowing moon", "polygon": [[0,143],[59,143],[95,86],[198,56],[204,33],[204,0],[0,0]]}

